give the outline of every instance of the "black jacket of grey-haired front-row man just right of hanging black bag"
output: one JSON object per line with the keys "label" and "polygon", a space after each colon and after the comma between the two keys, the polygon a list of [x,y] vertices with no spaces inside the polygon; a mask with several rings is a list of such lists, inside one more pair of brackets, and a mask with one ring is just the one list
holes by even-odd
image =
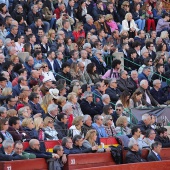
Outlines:
{"label": "black jacket of grey-haired front-row man just right of hanging black bag", "polygon": [[141,158],[139,152],[129,150],[126,154],[126,163],[146,162]]}

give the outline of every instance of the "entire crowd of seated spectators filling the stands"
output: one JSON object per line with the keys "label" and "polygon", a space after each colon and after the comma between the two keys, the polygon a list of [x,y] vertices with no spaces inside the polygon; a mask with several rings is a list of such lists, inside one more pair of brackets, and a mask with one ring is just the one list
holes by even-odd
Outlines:
{"label": "entire crowd of seated spectators filling the stands", "polygon": [[[113,136],[127,163],[146,161],[145,147],[161,160],[167,129],[147,113],[132,127],[129,112],[169,103],[169,38],[161,1],[1,0],[0,160],[54,158],[62,169],[68,154],[109,152],[98,145]],[[46,152],[45,140],[62,145]]]}

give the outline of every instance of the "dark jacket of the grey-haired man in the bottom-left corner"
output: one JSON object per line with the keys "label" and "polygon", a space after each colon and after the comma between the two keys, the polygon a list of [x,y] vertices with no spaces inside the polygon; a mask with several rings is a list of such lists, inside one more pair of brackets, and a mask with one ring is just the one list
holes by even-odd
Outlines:
{"label": "dark jacket of the grey-haired man in the bottom-left corner", "polygon": [[20,160],[22,157],[16,153],[12,155],[6,155],[4,148],[0,148],[0,161],[12,161],[12,160]]}

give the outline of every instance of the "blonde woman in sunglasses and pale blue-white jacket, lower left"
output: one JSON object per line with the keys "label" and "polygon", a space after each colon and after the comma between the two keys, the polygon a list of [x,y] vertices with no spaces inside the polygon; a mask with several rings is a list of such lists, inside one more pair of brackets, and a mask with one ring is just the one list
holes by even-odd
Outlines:
{"label": "blonde woman in sunglasses and pale blue-white jacket, lower left", "polygon": [[54,120],[51,117],[44,119],[44,132],[47,140],[58,140],[58,132],[54,128]]}

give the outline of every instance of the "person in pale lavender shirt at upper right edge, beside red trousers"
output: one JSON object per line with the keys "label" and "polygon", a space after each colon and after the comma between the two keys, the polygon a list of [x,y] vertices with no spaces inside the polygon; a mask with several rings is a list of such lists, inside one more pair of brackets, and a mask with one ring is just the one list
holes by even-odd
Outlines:
{"label": "person in pale lavender shirt at upper right edge, beside red trousers", "polygon": [[158,20],[158,23],[156,25],[156,32],[157,32],[157,36],[160,36],[161,32],[162,31],[168,31],[170,32],[170,29],[169,29],[169,14],[168,13],[165,13],[162,15],[162,18],[160,18]]}

